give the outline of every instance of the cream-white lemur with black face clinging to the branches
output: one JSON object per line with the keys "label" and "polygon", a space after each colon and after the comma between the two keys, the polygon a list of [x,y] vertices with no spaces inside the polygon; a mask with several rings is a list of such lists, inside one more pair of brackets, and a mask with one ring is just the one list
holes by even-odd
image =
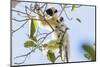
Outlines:
{"label": "cream-white lemur with black face clinging to the branches", "polygon": [[69,39],[68,39],[67,30],[69,28],[65,26],[64,18],[63,17],[58,18],[57,16],[58,10],[55,9],[54,7],[48,8],[45,11],[47,15],[43,15],[43,13],[41,12],[38,6],[35,6],[35,7],[36,7],[37,16],[40,19],[40,24],[43,27],[46,27],[46,26],[49,26],[48,25],[49,23],[54,29],[54,32],[53,32],[53,35],[55,36],[54,39],[62,41],[62,46],[61,46],[62,52],[61,53],[63,55],[64,62],[68,62]]}

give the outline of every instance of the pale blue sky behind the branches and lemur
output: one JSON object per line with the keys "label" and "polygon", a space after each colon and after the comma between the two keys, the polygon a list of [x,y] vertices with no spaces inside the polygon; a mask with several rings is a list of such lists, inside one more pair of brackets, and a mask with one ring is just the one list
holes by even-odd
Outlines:
{"label": "pale blue sky behind the branches and lemur", "polygon": [[[14,9],[24,11],[25,5],[29,6],[30,3],[19,3]],[[58,11],[61,11],[59,4],[49,4],[48,7],[55,7]],[[47,7],[47,8],[48,8]],[[70,62],[78,61],[89,61],[84,57],[84,50],[82,49],[82,43],[93,44],[95,42],[95,7],[81,5],[79,8],[76,8],[75,11],[71,11],[71,8],[66,8],[66,13],[68,16],[73,18],[73,20],[68,20],[66,15],[62,13],[64,17],[64,23],[67,27],[69,34],[69,43],[70,43]],[[12,17],[17,19],[23,19],[18,16],[16,13],[12,13]],[[81,19],[81,23],[76,21],[76,18]],[[17,29],[24,22],[15,22],[12,21],[12,29]],[[47,31],[46,28],[41,32]],[[14,57],[26,54],[30,50],[24,47],[24,42],[28,39],[27,34],[29,32],[29,23],[27,23],[22,29],[15,32],[12,35],[12,64],[14,62],[23,61],[24,58],[14,59]],[[49,39],[49,38],[48,38]],[[59,60],[57,61],[59,62]],[[41,53],[41,51],[36,50],[32,53],[22,65],[26,64],[45,64],[50,63],[46,56]]]}

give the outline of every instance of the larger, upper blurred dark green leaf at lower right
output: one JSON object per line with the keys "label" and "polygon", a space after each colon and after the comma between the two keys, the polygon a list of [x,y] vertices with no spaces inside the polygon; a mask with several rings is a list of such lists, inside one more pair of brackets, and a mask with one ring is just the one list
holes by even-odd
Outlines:
{"label": "larger, upper blurred dark green leaf at lower right", "polygon": [[95,60],[96,57],[95,57],[95,50],[93,49],[93,47],[87,45],[87,44],[84,44],[83,45],[83,49],[88,53],[90,54],[91,56],[91,60]]}

